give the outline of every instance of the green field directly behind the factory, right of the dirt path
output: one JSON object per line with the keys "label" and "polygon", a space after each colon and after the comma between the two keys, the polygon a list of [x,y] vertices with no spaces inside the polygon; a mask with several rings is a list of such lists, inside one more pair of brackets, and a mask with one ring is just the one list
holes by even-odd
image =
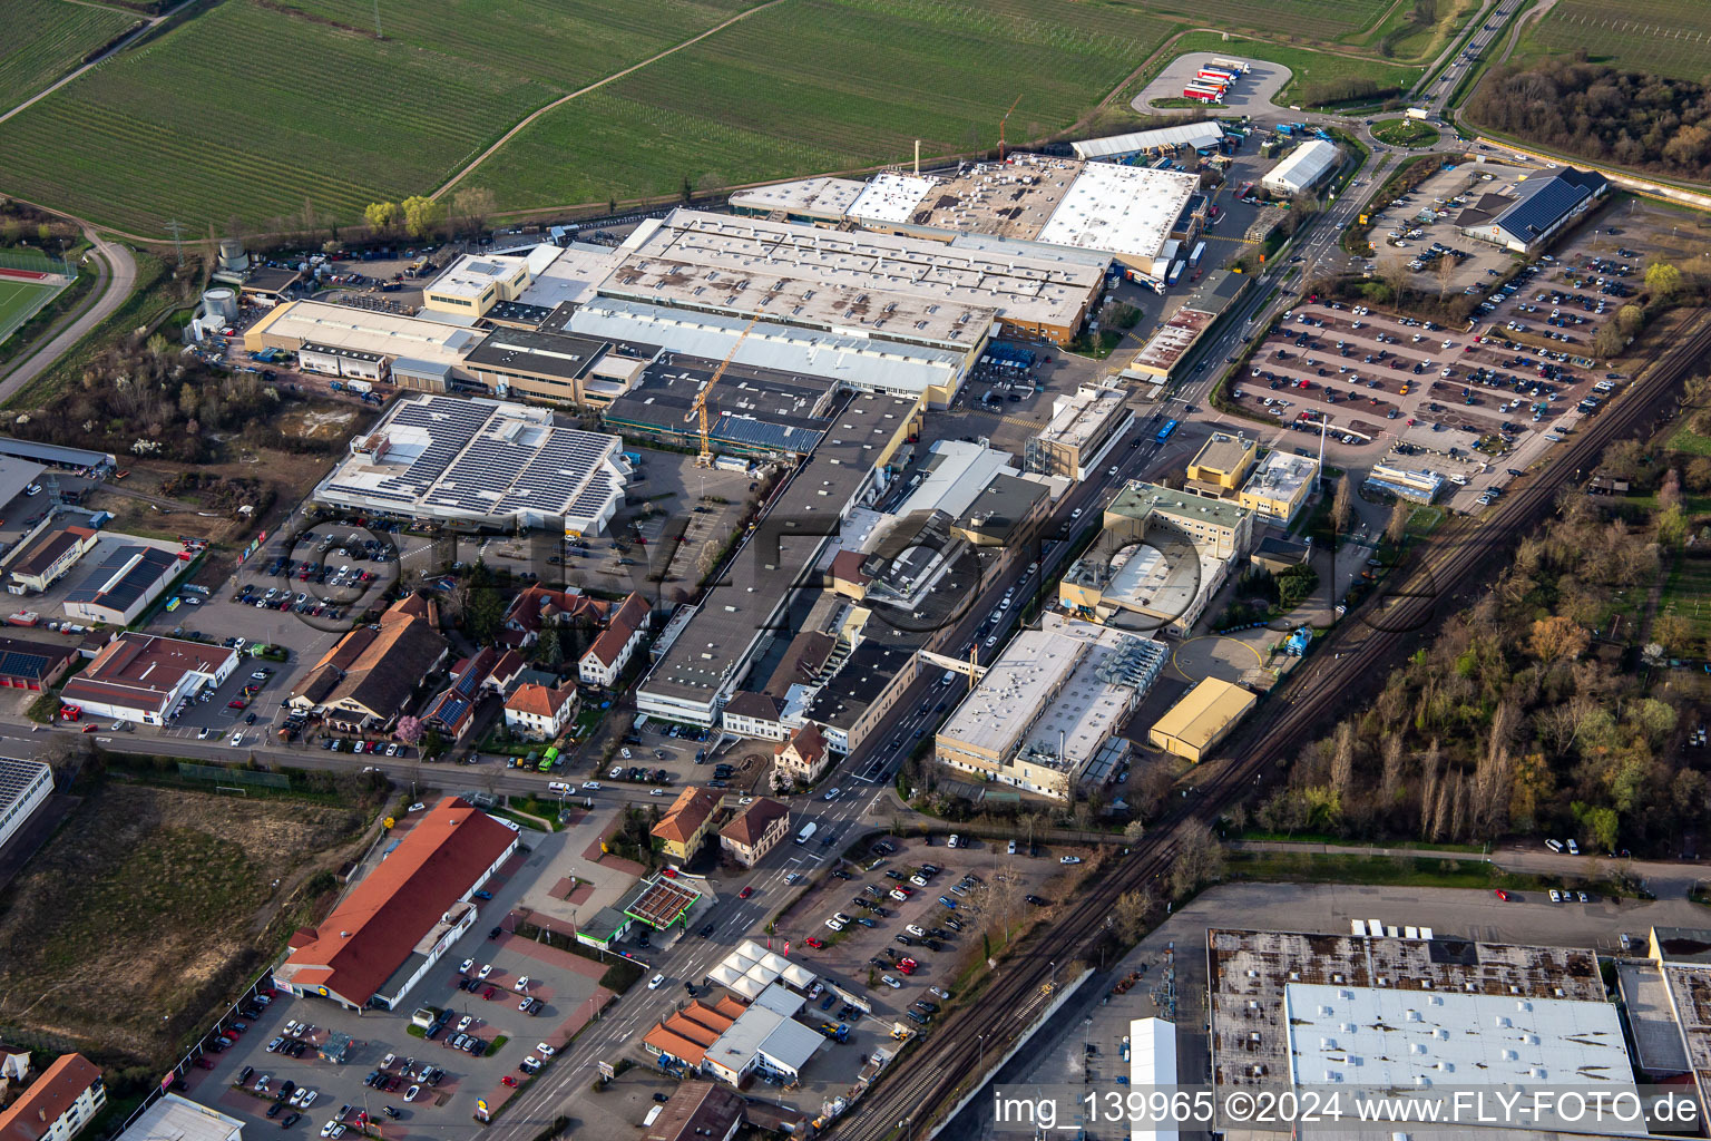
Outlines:
{"label": "green field directly behind the factory, right of the dirt path", "polygon": [[975,151],[1076,121],[1169,27],[1061,0],[789,0],[541,116],[471,176],[503,207]]}

